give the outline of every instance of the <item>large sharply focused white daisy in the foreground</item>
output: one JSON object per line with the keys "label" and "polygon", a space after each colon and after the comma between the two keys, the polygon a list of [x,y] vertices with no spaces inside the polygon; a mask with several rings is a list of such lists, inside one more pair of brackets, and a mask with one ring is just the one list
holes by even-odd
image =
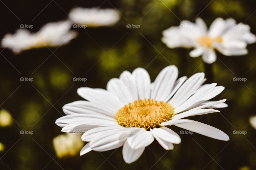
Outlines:
{"label": "large sharply focused white daisy in the foreground", "polygon": [[89,142],[81,150],[107,151],[123,146],[126,163],[136,161],[146,146],[156,139],[166,150],[173,149],[181,138],[171,125],[211,138],[227,141],[229,137],[210,125],[185,117],[219,112],[224,102],[208,101],[224,87],[216,83],[202,85],[204,73],[189,79],[178,77],[176,66],[165,67],[151,83],[143,68],[124,71],[107,83],[107,90],[81,87],[78,94],[88,101],[75,101],[63,106],[66,116],[56,124],[64,132],[84,132],[82,141]]}

